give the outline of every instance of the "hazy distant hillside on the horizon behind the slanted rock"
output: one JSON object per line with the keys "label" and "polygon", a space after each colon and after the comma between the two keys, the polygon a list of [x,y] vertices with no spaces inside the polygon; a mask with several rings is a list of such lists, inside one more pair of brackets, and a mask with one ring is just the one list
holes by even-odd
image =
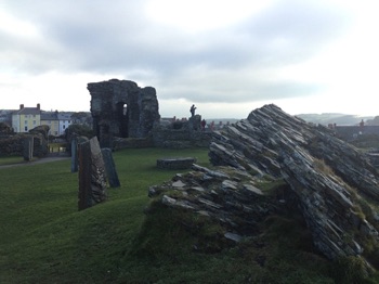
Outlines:
{"label": "hazy distant hillside on the horizon behind the slanted rock", "polygon": [[321,125],[337,124],[338,126],[358,125],[362,121],[362,119],[364,121],[374,119],[374,116],[358,116],[358,115],[347,115],[347,114],[338,114],[338,113],[300,114],[296,116],[304,119],[308,122],[321,124]]}

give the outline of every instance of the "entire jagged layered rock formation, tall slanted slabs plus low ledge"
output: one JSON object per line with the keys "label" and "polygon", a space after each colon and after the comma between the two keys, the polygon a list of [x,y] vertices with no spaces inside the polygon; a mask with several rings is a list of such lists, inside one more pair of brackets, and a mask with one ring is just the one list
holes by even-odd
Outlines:
{"label": "entire jagged layered rock formation, tall slanted slabs plus low ledge", "polygon": [[[165,204],[222,220],[235,235],[253,232],[256,222],[286,204],[296,206],[314,245],[329,259],[363,255],[367,240],[378,246],[379,218],[373,209],[379,201],[378,170],[330,130],[265,105],[214,132],[209,156],[222,167],[195,166],[152,188],[151,195],[167,192]],[[259,190],[266,180],[283,181],[290,190],[280,198],[266,196]]]}

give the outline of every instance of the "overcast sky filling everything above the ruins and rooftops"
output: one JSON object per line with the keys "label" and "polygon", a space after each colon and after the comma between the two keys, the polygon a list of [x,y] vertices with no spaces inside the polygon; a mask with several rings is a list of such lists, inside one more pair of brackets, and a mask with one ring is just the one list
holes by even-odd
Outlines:
{"label": "overcast sky filling everything above the ruins and rooftops", "polygon": [[377,0],[0,0],[0,109],[90,111],[152,86],[162,117],[379,115]]}

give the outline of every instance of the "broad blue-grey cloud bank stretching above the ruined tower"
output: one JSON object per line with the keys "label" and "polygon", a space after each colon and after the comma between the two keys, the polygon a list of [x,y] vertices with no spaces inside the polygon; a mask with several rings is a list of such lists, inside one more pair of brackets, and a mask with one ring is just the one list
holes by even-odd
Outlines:
{"label": "broad blue-grey cloud bank stretching above the ruined tower", "polygon": [[199,102],[317,92],[322,87],[315,83],[262,80],[260,70],[310,59],[347,28],[343,11],[317,1],[278,1],[241,24],[199,34],[151,22],[143,14],[144,1],[13,2],[14,12],[37,23],[48,42],[32,47],[30,55],[16,48],[29,72],[134,74],[161,88],[165,99]]}

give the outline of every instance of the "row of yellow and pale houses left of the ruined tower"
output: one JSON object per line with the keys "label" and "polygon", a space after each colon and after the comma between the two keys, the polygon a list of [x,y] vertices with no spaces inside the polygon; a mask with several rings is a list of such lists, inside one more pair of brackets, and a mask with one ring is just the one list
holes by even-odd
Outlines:
{"label": "row of yellow and pale houses left of the ruined tower", "polygon": [[[37,104],[36,107],[25,107],[24,104],[21,104],[17,111],[3,111],[3,113],[2,120],[5,122],[8,120],[14,132],[17,133],[28,132],[37,126],[47,125],[50,127],[50,135],[60,137],[71,124],[91,124],[86,119],[90,117],[89,113],[86,114],[86,117],[80,117],[76,116],[77,113],[74,112],[47,112],[41,109],[40,104]],[[84,119],[82,120],[82,118]]]}

